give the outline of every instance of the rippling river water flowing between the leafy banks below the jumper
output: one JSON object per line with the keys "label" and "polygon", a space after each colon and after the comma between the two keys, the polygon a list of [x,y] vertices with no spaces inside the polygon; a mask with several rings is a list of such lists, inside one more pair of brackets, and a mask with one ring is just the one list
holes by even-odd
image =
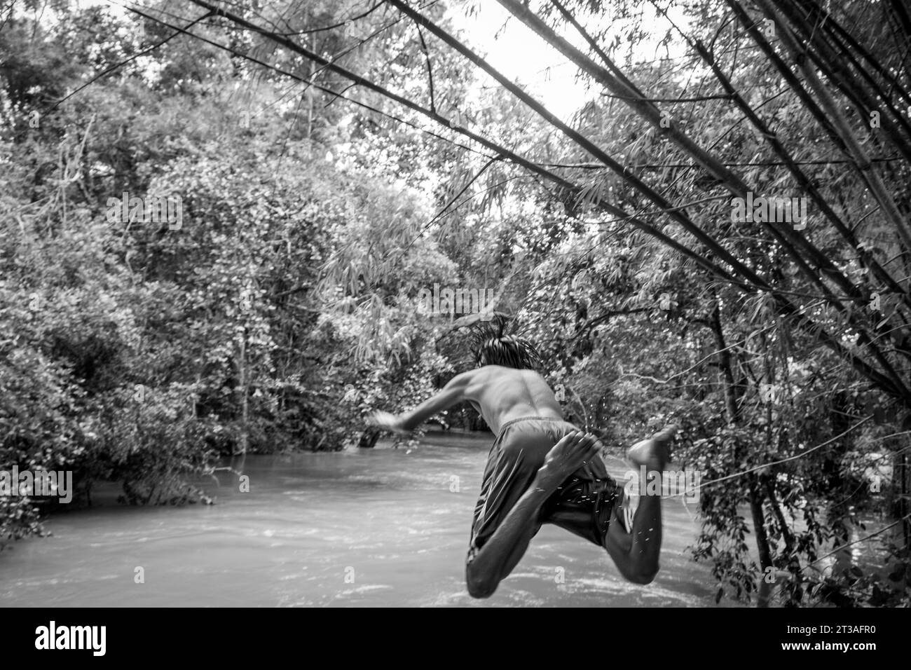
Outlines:
{"label": "rippling river water flowing between the leafy banks below the jumper", "polygon": [[[496,594],[472,599],[464,564],[491,440],[431,434],[410,451],[381,442],[250,456],[249,492],[226,472],[205,482],[215,505],[56,514],[51,537],[0,553],[0,604],[714,605],[708,566],[685,551],[698,525],[679,498],[665,500],[661,571],[647,586],[624,581],[595,545],[545,525]],[[616,459],[609,469],[617,477],[627,467]]]}

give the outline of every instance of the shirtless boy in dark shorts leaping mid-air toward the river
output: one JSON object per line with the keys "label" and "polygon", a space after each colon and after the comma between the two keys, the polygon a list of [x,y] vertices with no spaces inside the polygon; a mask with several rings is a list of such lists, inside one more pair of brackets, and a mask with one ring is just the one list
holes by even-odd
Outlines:
{"label": "shirtless boy in dark shorts leaping mid-air toward the river", "polygon": [[[528,347],[509,335],[493,337],[476,352],[476,363],[410,412],[371,417],[375,426],[407,433],[467,400],[496,434],[472,524],[468,593],[493,594],[543,523],[603,547],[630,582],[651,582],[661,547],[660,496],[640,498],[628,529],[620,512],[623,490],[605,469],[598,439],[563,420],[553,391],[531,369]],[[636,443],[627,458],[637,469],[660,473],[676,430],[670,426]]]}

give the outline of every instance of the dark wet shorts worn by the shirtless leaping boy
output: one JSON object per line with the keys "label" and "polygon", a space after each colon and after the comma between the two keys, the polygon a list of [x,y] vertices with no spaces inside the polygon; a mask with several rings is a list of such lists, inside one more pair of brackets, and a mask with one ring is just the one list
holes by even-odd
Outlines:
{"label": "dark wet shorts worn by the shirtless leaping boy", "polygon": [[[577,430],[568,421],[550,417],[517,418],[500,428],[487,456],[467,562],[474,560],[531,486],[548,451],[560,438]],[[545,501],[535,532],[544,523],[552,523],[604,547],[610,513],[619,504],[622,492],[598,457],[570,475]]]}

